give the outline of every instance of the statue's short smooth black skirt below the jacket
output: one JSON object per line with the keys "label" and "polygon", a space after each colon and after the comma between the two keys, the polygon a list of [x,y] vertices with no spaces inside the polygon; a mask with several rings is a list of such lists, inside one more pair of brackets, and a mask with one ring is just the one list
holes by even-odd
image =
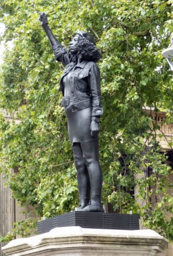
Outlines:
{"label": "statue's short smooth black skirt below the jacket", "polygon": [[98,140],[98,134],[92,137],[90,132],[91,108],[72,112],[72,102],[70,101],[70,104],[64,109],[68,121],[68,133],[71,146],[73,146],[73,143]]}

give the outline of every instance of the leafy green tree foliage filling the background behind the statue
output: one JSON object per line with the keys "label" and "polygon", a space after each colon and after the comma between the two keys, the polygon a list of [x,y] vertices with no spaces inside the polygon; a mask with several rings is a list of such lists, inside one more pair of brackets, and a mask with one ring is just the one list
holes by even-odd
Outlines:
{"label": "leafy green tree foliage filling the background behind the statue", "polygon": [[[63,67],[55,62],[38,21],[42,11],[62,45],[85,30],[95,36],[102,54],[103,202],[108,200],[117,212],[132,210],[146,227],[171,239],[171,220],[165,217],[172,209],[167,191],[171,168],[156,141],[159,127],[144,108],[156,114],[164,108],[166,122],[172,122],[172,73],[161,56],[173,31],[172,1],[1,0],[2,39],[13,41],[0,77],[1,108],[13,117],[9,122],[2,115],[0,121],[3,173],[14,198],[49,218],[73,210],[78,195],[67,121],[59,105]],[[16,116],[20,121],[15,122]],[[11,175],[8,170],[14,167],[19,172]],[[134,199],[134,186],[142,206]]]}

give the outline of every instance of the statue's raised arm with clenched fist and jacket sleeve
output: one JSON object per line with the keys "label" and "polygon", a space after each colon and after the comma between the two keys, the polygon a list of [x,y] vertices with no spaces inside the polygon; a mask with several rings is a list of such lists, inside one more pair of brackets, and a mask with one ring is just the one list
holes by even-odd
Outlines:
{"label": "statue's raised arm with clenched fist and jacket sleeve", "polygon": [[61,46],[49,28],[47,15],[44,12],[40,12],[39,20],[41,22],[42,28],[45,30],[49,38],[56,60],[61,61],[64,66],[67,66],[70,63],[69,55],[66,49]]}

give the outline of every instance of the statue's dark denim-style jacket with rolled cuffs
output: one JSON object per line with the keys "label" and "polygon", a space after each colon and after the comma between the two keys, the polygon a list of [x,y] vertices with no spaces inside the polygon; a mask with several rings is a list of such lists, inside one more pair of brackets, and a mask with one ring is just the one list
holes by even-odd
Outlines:
{"label": "statue's dark denim-style jacket with rolled cuffs", "polygon": [[81,63],[71,62],[66,49],[58,41],[54,43],[52,49],[56,60],[61,61],[66,66],[60,80],[63,96],[63,78],[73,68],[75,70],[74,75],[71,77],[72,111],[75,112],[91,107],[92,116],[100,117],[103,114],[103,110],[101,108],[100,71],[97,64],[88,60],[83,60]]}

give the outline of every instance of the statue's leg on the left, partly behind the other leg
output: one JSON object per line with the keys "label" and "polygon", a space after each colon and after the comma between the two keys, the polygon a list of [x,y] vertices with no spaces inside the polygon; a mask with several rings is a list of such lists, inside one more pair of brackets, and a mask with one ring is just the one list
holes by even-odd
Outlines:
{"label": "statue's leg on the left, partly behind the other leg", "polygon": [[80,143],[73,144],[73,154],[77,169],[77,182],[79,188],[80,208],[87,206],[90,201],[90,178],[87,166],[84,163]]}

